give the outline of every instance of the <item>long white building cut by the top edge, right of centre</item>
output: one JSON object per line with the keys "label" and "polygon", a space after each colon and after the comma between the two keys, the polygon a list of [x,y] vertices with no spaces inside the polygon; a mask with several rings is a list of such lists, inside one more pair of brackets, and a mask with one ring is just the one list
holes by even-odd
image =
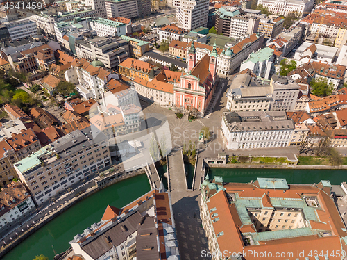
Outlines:
{"label": "long white building cut by the top edge, right of centre", "polygon": [[258,5],[262,4],[269,9],[270,13],[287,16],[290,13],[296,13],[300,17],[310,13],[313,6],[313,0],[259,0]]}

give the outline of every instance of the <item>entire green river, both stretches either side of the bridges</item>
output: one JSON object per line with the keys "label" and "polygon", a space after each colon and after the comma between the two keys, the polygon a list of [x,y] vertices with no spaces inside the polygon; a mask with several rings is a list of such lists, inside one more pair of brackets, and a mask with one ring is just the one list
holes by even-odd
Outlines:
{"label": "entire green river, both stretches either side of the bridges", "polygon": [[[257,177],[277,177],[287,179],[289,184],[313,184],[322,179],[331,184],[347,181],[346,170],[283,170],[283,169],[228,169],[210,168],[210,178],[223,176],[226,182],[255,181]],[[126,179],[94,193],[71,207],[47,225],[29,236],[11,250],[1,260],[32,260],[38,254],[53,259],[52,245],[56,252],[69,248],[69,241],[76,234],[99,222],[108,204],[121,207],[132,202],[150,190],[145,174]]]}

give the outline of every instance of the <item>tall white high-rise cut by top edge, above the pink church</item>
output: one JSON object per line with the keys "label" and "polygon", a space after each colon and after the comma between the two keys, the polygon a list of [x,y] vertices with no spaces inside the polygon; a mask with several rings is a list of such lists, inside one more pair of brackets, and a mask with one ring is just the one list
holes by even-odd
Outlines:
{"label": "tall white high-rise cut by top edge, above the pink church", "polygon": [[209,1],[173,0],[173,6],[176,7],[176,17],[182,28],[193,30],[208,25]]}

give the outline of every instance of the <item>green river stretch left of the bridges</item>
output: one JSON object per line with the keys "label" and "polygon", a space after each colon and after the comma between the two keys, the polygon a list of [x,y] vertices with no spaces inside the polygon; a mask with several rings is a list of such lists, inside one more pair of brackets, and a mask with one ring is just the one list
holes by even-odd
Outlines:
{"label": "green river stretch left of the bridges", "polygon": [[70,247],[69,241],[76,234],[82,233],[94,222],[101,220],[108,204],[120,208],[149,190],[151,188],[146,174],[104,188],[54,218],[8,252],[1,260],[31,260],[40,254],[44,254],[51,260],[54,256],[52,245],[56,252],[67,250]]}

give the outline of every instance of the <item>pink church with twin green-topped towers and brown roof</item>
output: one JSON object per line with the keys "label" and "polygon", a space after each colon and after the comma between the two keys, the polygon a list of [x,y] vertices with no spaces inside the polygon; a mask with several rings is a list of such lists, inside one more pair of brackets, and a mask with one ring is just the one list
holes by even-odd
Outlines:
{"label": "pink church with twin green-topped towers and brown roof", "polygon": [[192,43],[187,59],[188,74],[180,76],[180,85],[174,88],[174,104],[188,111],[196,108],[203,115],[215,90],[217,46],[196,63],[196,49]]}

